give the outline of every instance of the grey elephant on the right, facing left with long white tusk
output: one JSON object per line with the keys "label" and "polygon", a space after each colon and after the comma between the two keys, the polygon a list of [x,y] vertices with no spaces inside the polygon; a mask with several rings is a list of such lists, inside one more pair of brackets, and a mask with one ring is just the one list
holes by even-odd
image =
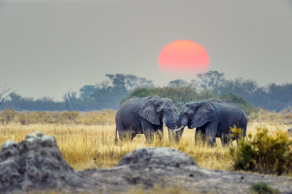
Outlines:
{"label": "grey elephant on the right, facing left with long white tusk", "polygon": [[177,131],[183,131],[185,126],[189,129],[197,128],[195,140],[199,135],[203,141],[214,146],[215,138],[221,138],[223,146],[237,140],[239,136],[231,136],[230,127],[234,125],[242,130],[242,136],[246,137],[247,116],[244,111],[233,102],[225,99],[209,98],[200,102],[189,102],[181,109]]}

